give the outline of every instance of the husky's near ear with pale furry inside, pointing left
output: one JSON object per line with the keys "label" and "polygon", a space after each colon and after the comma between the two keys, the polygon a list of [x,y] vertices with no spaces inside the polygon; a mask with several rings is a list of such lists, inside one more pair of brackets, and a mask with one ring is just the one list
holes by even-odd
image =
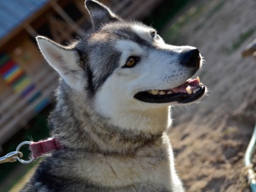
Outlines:
{"label": "husky's near ear with pale furry inside, pointing left", "polygon": [[65,82],[77,91],[82,89],[83,69],[78,64],[77,51],[46,37],[37,36],[36,40],[45,59],[59,72]]}

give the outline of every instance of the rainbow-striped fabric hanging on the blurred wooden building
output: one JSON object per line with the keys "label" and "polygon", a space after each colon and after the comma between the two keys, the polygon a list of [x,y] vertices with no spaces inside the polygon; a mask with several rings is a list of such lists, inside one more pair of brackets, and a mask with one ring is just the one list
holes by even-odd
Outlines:
{"label": "rainbow-striped fabric hanging on the blurred wooden building", "polygon": [[[0,54],[0,75],[4,82],[11,86],[13,91],[19,94],[21,98],[29,97],[27,104],[33,103],[42,95],[40,91],[34,91],[36,85],[28,77],[24,69],[11,59],[8,54]],[[37,104],[34,111],[40,112],[48,103],[50,101],[46,98],[43,99]]]}

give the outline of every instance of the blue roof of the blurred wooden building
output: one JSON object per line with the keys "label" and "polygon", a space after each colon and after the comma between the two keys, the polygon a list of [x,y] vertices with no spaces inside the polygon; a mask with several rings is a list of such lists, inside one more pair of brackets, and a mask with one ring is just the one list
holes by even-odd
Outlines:
{"label": "blue roof of the blurred wooden building", "polygon": [[50,0],[1,0],[0,39],[43,7]]}

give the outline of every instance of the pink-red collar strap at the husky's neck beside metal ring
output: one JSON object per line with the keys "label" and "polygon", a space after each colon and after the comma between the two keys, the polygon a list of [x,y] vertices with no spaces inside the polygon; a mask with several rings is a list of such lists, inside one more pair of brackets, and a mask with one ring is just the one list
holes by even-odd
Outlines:
{"label": "pink-red collar strap at the husky's neck beside metal ring", "polygon": [[33,158],[38,158],[46,153],[53,152],[55,150],[65,149],[65,147],[56,138],[49,138],[39,142],[32,142],[30,149]]}

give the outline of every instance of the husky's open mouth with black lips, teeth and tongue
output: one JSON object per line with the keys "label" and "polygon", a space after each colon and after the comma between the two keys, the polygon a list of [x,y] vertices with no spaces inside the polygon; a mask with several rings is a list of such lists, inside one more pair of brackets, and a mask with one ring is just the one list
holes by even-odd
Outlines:
{"label": "husky's open mouth with black lips, teeth and tongue", "polygon": [[147,103],[191,103],[199,100],[205,94],[205,86],[199,77],[190,78],[184,84],[165,90],[149,90],[138,92],[134,97]]}

